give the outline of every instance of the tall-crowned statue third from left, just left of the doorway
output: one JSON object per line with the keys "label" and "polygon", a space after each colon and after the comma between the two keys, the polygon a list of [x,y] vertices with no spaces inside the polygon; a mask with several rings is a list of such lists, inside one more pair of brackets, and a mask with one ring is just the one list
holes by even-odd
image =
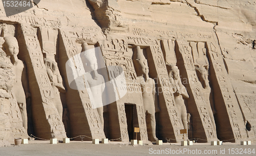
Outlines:
{"label": "tall-crowned statue third from left, just left of the doorway", "polygon": [[[89,50],[88,44],[82,44],[82,53],[81,53],[81,60],[83,64],[83,68],[85,70],[84,78],[86,79],[86,83],[88,83],[90,87],[88,90],[91,90],[92,96],[90,100],[94,108],[97,108],[100,122],[102,127],[104,127],[104,118],[103,118],[103,103],[102,103],[102,93],[105,89],[105,81],[104,77],[98,73],[98,64],[95,55],[95,51]],[[91,99],[93,98],[93,99]]]}

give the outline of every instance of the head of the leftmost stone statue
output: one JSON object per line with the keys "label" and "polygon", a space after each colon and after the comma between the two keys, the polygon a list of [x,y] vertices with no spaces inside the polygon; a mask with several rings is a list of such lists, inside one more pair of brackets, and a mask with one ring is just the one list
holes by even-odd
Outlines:
{"label": "head of the leftmost stone statue", "polygon": [[15,37],[7,36],[4,37],[4,49],[7,56],[17,56],[18,55],[18,41]]}

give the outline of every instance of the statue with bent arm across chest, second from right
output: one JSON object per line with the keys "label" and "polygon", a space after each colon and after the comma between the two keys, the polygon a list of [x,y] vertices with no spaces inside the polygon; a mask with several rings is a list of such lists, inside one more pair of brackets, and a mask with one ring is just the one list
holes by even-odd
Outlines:
{"label": "statue with bent arm across chest, second from right", "polygon": [[169,65],[169,66],[170,66],[169,80],[170,80],[170,83],[173,85],[175,102],[176,102],[184,129],[187,129],[187,124],[188,124],[187,110],[184,103],[184,98],[189,98],[189,96],[187,94],[187,90],[185,86],[183,86],[183,84],[181,83],[180,71],[178,67],[175,65]]}

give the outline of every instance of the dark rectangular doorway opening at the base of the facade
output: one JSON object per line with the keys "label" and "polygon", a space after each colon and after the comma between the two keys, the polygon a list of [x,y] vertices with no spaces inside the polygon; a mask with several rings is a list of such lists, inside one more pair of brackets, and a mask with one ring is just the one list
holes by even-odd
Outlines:
{"label": "dark rectangular doorway opening at the base of the facade", "polygon": [[127,120],[127,130],[129,135],[129,140],[134,139],[134,112],[135,112],[135,105],[124,105],[126,120]]}

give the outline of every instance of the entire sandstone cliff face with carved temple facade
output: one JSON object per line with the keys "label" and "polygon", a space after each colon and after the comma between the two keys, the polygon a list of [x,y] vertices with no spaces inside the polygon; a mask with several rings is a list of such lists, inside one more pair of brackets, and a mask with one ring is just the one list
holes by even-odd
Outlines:
{"label": "entire sandstone cliff face with carved temple facade", "polygon": [[139,127],[144,141],[186,128],[255,142],[255,5],[44,0],[7,17],[1,4],[0,140],[129,141]]}

